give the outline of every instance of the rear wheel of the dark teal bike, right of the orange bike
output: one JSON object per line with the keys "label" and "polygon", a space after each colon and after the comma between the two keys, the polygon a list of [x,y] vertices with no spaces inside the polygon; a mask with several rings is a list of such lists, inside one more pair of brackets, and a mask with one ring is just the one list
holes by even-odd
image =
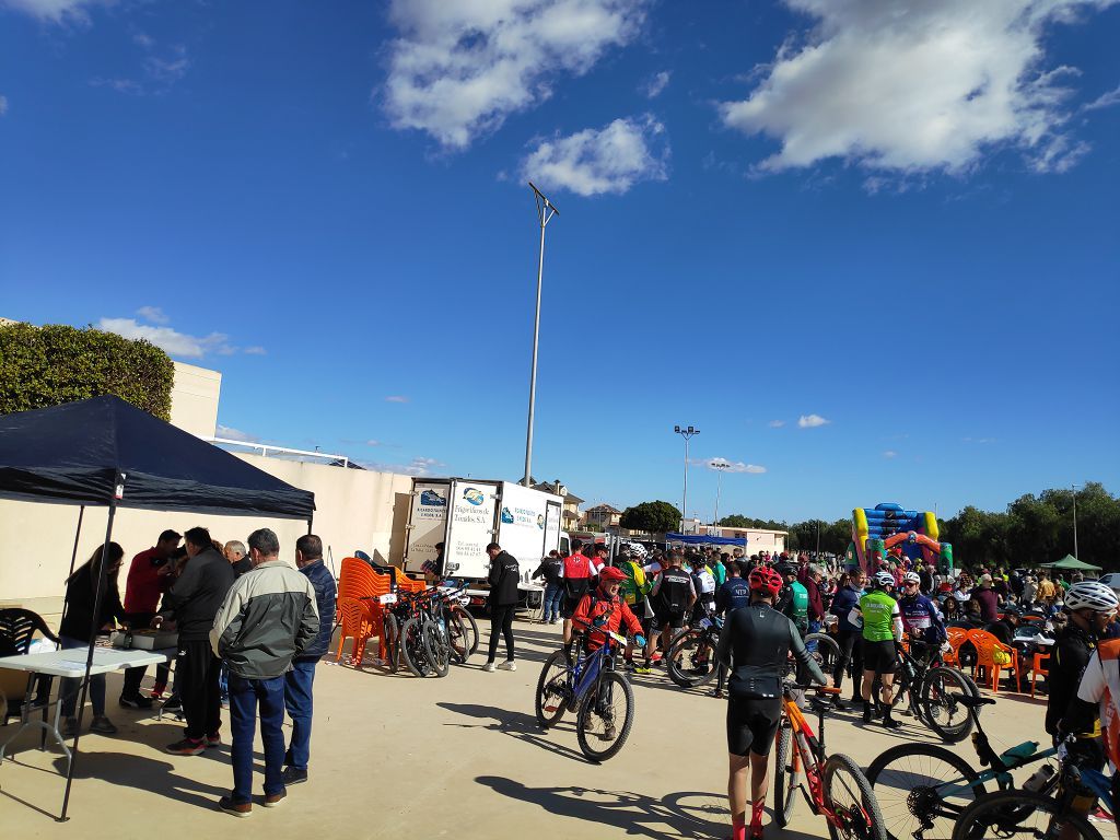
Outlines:
{"label": "rear wheel of the dark teal bike, right of the orange bike", "polygon": [[968,762],[936,744],[899,744],[867,768],[892,840],[918,831],[926,840],[948,840],[961,812],[987,793],[979,778]]}

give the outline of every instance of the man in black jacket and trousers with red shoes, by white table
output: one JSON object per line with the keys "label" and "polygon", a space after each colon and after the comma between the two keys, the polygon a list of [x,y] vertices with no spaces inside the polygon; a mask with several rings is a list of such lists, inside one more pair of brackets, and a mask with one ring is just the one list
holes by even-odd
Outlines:
{"label": "man in black jacket and trousers with red shoes, by white table", "polygon": [[222,728],[218,688],[222,662],[211,650],[209,632],[236,575],[230,561],[214,548],[205,528],[193,528],[183,539],[189,559],[164,597],[164,608],[152,618],[151,626],[159,627],[165,620],[174,619],[179,633],[175,679],[187,730],[181,740],[167,746],[167,752],[198,755],[206,747],[222,743],[218,735]]}

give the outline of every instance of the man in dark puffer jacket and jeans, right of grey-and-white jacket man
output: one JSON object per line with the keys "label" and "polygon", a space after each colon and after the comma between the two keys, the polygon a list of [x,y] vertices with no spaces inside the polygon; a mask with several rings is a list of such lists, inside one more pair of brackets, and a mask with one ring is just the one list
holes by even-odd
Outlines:
{"label": "man in dark puffer jacket and jeans, right of grey-and-white jacket man", "polygon": [[315,666],[330,647],[335,627],[335,578],[323,562],[323,540],[305,534],[296,540],[296,568],[315,587],[315,604],[319,608],[319,632],[315,641],[291,661],[291,671],[283,675],[283,702],[291,718],[291,743],[288,745],[283,772],[286,785],[307,781],[307,762],[311,754],[311,685]]}

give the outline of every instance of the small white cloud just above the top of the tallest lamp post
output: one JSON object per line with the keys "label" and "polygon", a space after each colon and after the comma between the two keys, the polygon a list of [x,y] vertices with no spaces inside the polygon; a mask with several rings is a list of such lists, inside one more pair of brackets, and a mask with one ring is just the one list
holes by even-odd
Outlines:
{"label": "small white cloud just above the top of the tallest lamp post", "polygon": [[664,127],[645,115],[544,140],[522,161],[522,177],[581,196],[625,193],[638,181],[668,177],[663,134]]}

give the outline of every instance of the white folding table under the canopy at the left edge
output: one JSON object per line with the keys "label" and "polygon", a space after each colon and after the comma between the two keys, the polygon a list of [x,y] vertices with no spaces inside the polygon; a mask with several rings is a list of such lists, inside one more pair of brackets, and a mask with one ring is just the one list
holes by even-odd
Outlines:
{"label": "white folding table under the canopy at the left edge", "polygon": [[[32,653],[25,656],[0,657],[0,668],[11,671],[26,671],[28,674],[27,694],[24,697],[24,706],[20,709],[19,716],[20,726],[15,735],[3,744],[0,744],[0,763],[4,759],[8,745],[28,729],[43,729],[46,735],[52,736],[58,743],[58,746],[62,747],[63,753],[66,755],[67,764],[73,759],[69,747],[66,746],[66,741],[58,730],[58,722],[62,716],[62,683],[59,682],[58,697],[55,700],[47,697],[39,702],[32,702],[35,687],[38,683],[38,680],[34,678],[43,675],[83,679],[85,676],[85,663],[88,654],[88,647],[68,647],[62,651]],[[108,674],[111,671],[124,671],[140,665],[161,665],[175,659],[175,648],[165,651],[137,651],[116,647],[95,647],[93,650],[93,665],[90,668],[90,675]],[[53,722],[48,720],[31,720],[32,712],[45,712],[52,703],[55,706]],[[44,744],[45,746],[46,744]]]}

